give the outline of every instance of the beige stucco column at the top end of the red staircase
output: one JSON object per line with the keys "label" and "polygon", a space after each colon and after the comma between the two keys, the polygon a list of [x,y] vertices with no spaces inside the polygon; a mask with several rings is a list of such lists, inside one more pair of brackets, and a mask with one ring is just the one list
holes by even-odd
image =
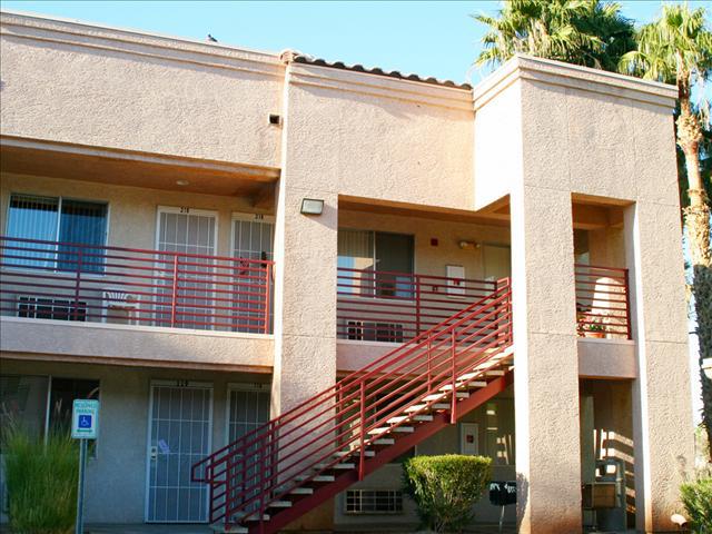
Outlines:
{"label": "beige stucco column at the top end of the red staircase", "polygon": [[580,533],[581,446],[571,192],[511,196],[520,533]]}

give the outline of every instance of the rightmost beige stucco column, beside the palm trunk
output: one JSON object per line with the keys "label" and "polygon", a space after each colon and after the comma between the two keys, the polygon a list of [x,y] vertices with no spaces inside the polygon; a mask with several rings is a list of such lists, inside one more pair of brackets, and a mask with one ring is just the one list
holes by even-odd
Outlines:
{"label": "rightmost beige stucco column, beside the palm trunk", "polygon": [[639,532],[673,532],[679,486],[694,467],[688,318],[680,209],[639,201],[625,209],[633,338],[635,508]]}

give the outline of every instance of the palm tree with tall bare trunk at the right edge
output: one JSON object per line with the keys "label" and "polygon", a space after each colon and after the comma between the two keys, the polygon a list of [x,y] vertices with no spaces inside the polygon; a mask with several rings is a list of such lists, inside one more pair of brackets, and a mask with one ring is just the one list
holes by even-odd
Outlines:
{"label": "palm tree with tall bare trunk at the right edge", "polygon": [[[704,8],[664,6],[659,20],[637,33],[637,50],[623,56],[622,72],[678,86],[679,113],[675,121],[678,146],[684,155],[686,207],[683,209],[692,260],[694,309],[700,343],[702,422],[712,445],[712,380],[702,372],[702,360],[712,357],[712,253],[710,250],[710,204],[700,162],[706,113],[695,110],[692,89],[704,97],[704,81],[712,75],[712,32],[706,28]],[[702,106],[702,111],[705,106]],[[708,125],[709,126],[709,125]],[[705,158],[706,159],[706,158]],[[704,169],[706,170],[706,169]],[[712,446],[710,447],[712,459]]]}

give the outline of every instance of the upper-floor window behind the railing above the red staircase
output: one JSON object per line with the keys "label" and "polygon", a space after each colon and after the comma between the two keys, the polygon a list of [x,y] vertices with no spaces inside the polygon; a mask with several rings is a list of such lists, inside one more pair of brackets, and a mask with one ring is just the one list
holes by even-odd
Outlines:
{"label": "upper-floor window behind the railing above the red staircase", "polygon": [[414,249],[409,235],[339,229],[339,293],[413,298]]}

